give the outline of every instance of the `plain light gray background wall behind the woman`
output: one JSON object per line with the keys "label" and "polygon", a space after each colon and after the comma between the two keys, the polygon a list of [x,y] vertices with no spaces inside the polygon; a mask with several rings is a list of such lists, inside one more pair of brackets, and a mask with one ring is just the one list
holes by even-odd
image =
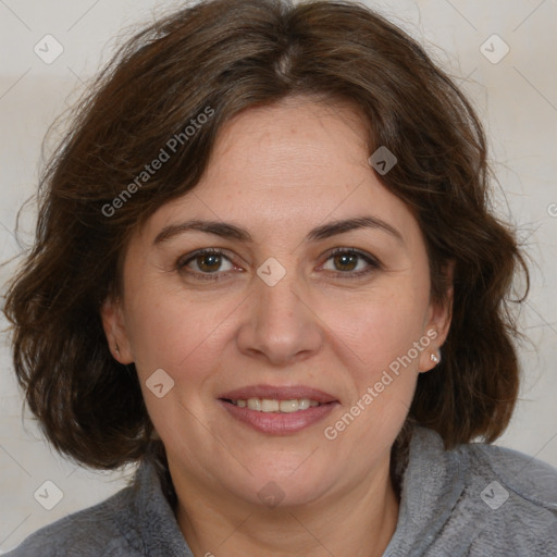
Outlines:
{"label": "plain light gray background wall behind the woman", "polygon": [[[498,443],[557,466],[557,2],[368,3],[426,46],[471,96],[485,123],[500,183],[498,207],[519,226],[534,262],[531,296],[520,318],[531,339],[521,349],[524,382],[511,426]],[[15,213],[35,191],[41,140],[54,116],[72,104],[85,82],[108,60],[124,27],[149,22],[180,4],[0,0],[0,259],[17,252],[12,235]],[[51,64],[34,52],[47,34],[64,49]],[[510,48],[496,64],[480,50],[493,34]],[[486,47],[494,51],[492,57],[503,52],[497,39],[490,39]],[[27,240],[33,224],[32,207],[23,220]],[[2,284],[13,269],[12,264],[0,270]],[[5,324],[2,319],[2,329]],[[86,472],[48,448],[34,422],[22,419],[5,335],[1,343],[0,554],[37,528],[106,498],[121,488],[125,475]],[[50,511],[34,498],[47,480],[63,493]]]}

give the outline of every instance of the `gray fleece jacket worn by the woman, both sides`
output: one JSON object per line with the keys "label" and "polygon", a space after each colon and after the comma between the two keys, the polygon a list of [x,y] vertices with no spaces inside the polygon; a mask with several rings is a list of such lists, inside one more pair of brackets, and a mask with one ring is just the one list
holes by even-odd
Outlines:
{"label": "gray fleece jacket worn by the woman, both sides", "polygon": [[[39,530],[7,557],[124,556],[193,557],[146,462],[133,486]],[[445,451],[436,433],[416,428],[383,554],[403,556],[557,557],[557,469],[493,445]]]}

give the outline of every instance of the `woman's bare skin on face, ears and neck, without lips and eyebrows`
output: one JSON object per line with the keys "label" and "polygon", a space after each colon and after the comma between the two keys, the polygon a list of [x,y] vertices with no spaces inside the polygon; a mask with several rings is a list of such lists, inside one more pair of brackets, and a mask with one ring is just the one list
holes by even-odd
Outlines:
{"label": "woman's bare skin on face, ears and neck, without lips and eyebrows", "polygon": [[[371,557],[393,535],[389,450],[450,318],[448,306],[430,302],[419,225],[381,184],[369,154],[361,117],[348,106],[289,98],[249,109],[223,128],[196,188],[160,208],[131,240],[123,297],[106,301],[104,330],[111,349],[120,348],[114,357],[135,362],[168,451],[178,524],[196,556]],[[401,240],[381,228],[304,240],[315,226],[364,215]],[[165,226],[189,219],[234,223],[252,242],[196,231],[153,245]],[[201,248],[222,249],[221,267],[198,258],[178,270]],[[380,265],[331,257],[334,248],[356,248]],[[274,286],[257,274],[271,257],[286,271]],[[196,277],[210,275],[208,268],[222,280]],[[348,276],[360,270],[371,272]],[[429,347],[327,440],[325,426],[428,331],[436,335]],[[174,381],[163,398],[146,387],[157,369]],[[339,404],[300,432],[263,434],[218,401],[256,384],[307,385]],[[284,497],[274,508],[258,496],[270,481]]]}

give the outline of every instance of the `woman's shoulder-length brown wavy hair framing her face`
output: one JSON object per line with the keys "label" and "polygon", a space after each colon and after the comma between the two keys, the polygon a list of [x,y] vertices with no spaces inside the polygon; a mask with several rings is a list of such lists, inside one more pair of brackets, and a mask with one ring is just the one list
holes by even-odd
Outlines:
{"label": "woman's shoulder-length brown wavy hair framing her face", "polygon": [[[100,307],[122,294],[131,234],[196,186],[222,126],[294,95],[349,102],[368,124],[370,154],[396,154],[379,177],[418,219],[432,299],[446,301],[454,261],[443,359],[420,375],[407,423],[437,431],[447,448],[494,441],[507,426],[519,386],[509,298],[520,269],[528,292],[528,269],[492,210],[470,102],[412,38],[362,4],[210,0],[120,48],[42,173],[36,240],[4,312],[26,401],[61,453],[103,469],[161,454],[134,366],[109,351]],[[175,153],[138,183],[173,137]]]}

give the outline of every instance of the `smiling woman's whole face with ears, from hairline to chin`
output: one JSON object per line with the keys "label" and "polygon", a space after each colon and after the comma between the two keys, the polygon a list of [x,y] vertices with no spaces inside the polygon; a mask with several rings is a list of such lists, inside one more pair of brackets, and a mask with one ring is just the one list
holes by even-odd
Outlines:
{"label": "smiling woman's whole face with ears, from hairline to chin", "polygon": [[199,185],[129,244],[104,327],[135,362],[171,472],[196,488],[297,505],[388,469],[448,319],[364,138],[348,107],[248,110]]}

